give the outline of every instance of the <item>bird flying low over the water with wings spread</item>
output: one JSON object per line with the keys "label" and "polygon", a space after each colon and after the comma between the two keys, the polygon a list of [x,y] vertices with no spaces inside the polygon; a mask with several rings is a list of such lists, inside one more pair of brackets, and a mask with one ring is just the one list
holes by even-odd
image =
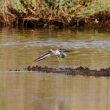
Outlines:
{"label": "bird flying low over the water with wings spread", "polygon": [[56,49],[56,50],[50,49],[47,53],[45,53],[44,55],[35,59],[34,62],[42,61],[42,60],[44,60],[50,56],[56,56],[57,58],[65,58],[65,56],[67,56],[66,52],[70,52],[70,50],[67,50],[67,49]]}

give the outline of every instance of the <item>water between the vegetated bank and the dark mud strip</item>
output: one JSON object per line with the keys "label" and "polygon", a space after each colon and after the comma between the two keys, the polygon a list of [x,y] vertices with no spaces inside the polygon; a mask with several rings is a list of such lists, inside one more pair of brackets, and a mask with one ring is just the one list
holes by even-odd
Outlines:
{"label": "water between the vegetated bank and the dark mud strip", "polygon": [[[66,48],[71,52],[60,63],[47,58],[33,64],[33,60],[50,48]],[[7,29],[0,31],[0,70],[23,68],[27,65],[52,67],[86,66],[91,69],[110,67],[110,34],[90,31]]]}

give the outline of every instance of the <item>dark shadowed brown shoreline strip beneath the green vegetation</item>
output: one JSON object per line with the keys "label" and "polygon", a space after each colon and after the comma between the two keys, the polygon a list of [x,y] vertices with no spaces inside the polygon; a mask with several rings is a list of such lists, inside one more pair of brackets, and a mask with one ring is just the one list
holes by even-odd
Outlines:
{"label": "dark shadowed brown shoreline strip beneath the green vegetation", "polygon": [[[105,14],[105,15],[104,15]],[[106,15],[107,14],[107,15]],[[101,15],[101,16],[100,16]],[[6,25],[5,21],[0,22],[0,27],[10,28],[41,28],[41,29],[94,29],[98,31],[110,32],[110,12],[99,12],[89,18],[73,18],[68,23],[64,23],[60,20],[45,20],[40,18],[17,18],[10,25]]]}

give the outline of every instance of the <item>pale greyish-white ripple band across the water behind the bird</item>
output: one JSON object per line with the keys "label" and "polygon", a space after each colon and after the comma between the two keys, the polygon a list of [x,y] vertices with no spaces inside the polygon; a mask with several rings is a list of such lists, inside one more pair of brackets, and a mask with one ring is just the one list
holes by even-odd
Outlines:
{"label": "pale greyish-white ripple band across the water behind the bird", "polygon": [[108,48],[110,41],[31,41],[31,42],[6,42],[1,43],[0,47],[6,46],[56,46],[64,48]]}

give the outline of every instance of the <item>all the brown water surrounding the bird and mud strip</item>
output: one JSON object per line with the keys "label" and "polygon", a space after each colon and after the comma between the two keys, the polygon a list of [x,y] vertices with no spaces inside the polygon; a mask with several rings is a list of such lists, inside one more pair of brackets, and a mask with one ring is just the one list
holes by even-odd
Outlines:
{"label": "all the brown water surrounding the bird and mud strip", "polygon": [[[71,52],[33,63],[49,48]],[[10,72],[27,65],[89,68],[110,67],[110,34],[71,30],[0,30],[0,110],[109,110],[110,80],[106,77]]]}

